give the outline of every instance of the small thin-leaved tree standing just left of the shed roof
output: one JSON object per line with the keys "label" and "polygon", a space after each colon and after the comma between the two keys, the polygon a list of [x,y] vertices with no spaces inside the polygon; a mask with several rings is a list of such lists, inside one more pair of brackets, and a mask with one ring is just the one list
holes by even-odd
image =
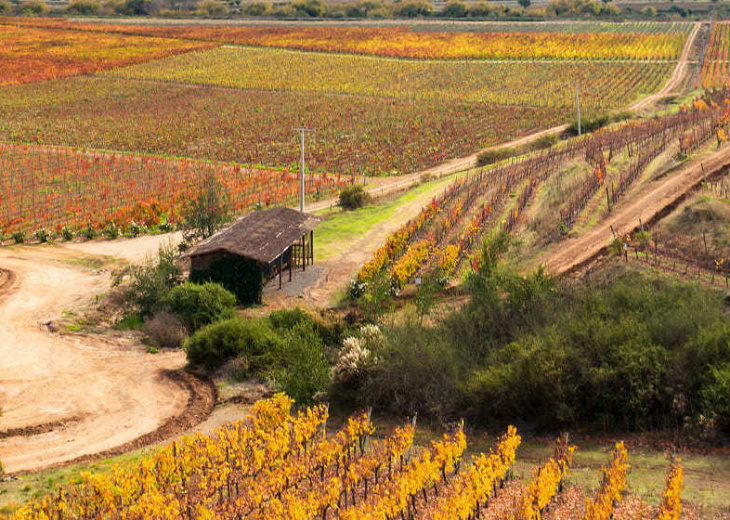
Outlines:
{"label": "small thin-leaved tree standing just left of the shed roof", "polygon": [[183,212],[184,225],[193,237],[208,238],[230,220],[230,201],[224,187],[213,175],[205,188],[190,201]]}

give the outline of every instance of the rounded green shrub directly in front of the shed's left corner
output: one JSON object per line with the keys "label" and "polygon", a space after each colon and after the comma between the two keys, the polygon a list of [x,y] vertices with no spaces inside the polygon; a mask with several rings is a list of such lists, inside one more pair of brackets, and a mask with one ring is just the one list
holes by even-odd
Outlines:
{"label": "rounded green shrub directly in front of the shed's left corner", "polygon": [[186,282],[170,290],[165,298],[170,310],[189,331],[233,316],[236,297],[217,283]]}

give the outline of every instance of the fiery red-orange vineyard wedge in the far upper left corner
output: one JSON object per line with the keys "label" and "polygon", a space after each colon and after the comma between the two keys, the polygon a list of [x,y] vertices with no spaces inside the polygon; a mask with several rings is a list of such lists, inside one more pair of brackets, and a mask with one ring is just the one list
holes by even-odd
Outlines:
{"label": "fiery red-orange vineyard wedge in the far upper left corner", "polygon": [[91,74],[212,44],[0,23],[0,87]]}

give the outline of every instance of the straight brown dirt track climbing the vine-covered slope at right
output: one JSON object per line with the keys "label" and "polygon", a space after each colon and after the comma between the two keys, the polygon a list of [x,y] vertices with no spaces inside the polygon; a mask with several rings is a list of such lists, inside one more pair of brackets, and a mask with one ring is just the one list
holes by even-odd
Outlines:
{"label": "straight brown dirt track climbing the vine-covered slope at right", "polygon": [[543,255],[538,263],[546,265],[554,275],[561,275],[599,255],[613,240],[611,226],[618,236],[630,233],[651,222],[665,208],[699,185],[704,175],[730,167],[730,145],[689,161],[669,177],[642,186],[630,199],[620,202],[611,215],[582,236],[566,240],[557,250]]}

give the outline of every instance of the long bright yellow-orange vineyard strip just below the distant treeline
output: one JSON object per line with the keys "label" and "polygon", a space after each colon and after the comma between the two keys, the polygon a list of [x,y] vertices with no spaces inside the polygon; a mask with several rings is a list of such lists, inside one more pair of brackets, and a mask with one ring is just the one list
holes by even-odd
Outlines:
{"label": "long bright yellow-orange vineyard strip just below the distant treeline", "polygon": [[408,27],[123,26],[66,24],[61,21],[34,25],[398,58],[517,60],[673,60],[682,50],[690,27],[686,24],[654,24],[650,31],[564,34],[416,32]]}

